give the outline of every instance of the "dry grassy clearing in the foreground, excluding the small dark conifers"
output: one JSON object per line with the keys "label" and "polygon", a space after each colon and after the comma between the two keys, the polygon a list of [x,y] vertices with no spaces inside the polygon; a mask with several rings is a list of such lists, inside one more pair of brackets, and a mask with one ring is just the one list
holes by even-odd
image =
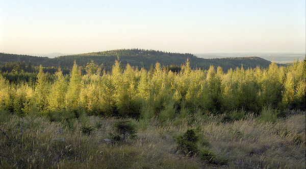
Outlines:
{"label": "dry grassy clearing in the foreground, excluding the small dark conifers", "polygon": [[[106,143],[115,118],[86,116],[61,122],[0,113],[0,168],[304,168],[305,112],[266,122],[248,114],[223,123],[222,115],[193,115],[160,123],[139,120],[137,137]],[[84,133],[84,126],[93,129]],[[199,129],[199,149],[216,160],[175,153],[173,137]],[[82,132],[83,131],[83,132]],[[0,131],[1,132],[1,131]],[[224,162],[226,161],[226,162]],[[223,165],[222,165],[223,164]]]}

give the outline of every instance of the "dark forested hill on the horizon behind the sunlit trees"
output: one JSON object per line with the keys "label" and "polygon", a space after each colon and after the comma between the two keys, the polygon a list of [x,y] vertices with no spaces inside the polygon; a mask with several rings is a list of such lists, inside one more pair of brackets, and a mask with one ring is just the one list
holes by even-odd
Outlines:
{"label": "dark forested hill on the horizon behind the sunlit trees", "polygon": [[172,67],[175,67],[173,65],[177,65],[178,67],[185,64],[187,59],[189,59],[190,66],[192,68],[198,67],[201,69],[209,69],[210,65],[214,65],[215,67],[221,66],[224,71],[227,71],[230,68],[235,69],[236,67],[241,67],[241,65],[243,65],[244,68],[255,68],[257,66],[266,68],[271,63],[270,61],[258,57],[203,59],[192,54],[168,53],[154,50],[124,49],[59,56],[56,58],[0,53],[0,65],[4,66],[5,64],[8,65],[9,63],[13,62],[19,62],[22,64],[23,61],[23,64],[29,64],[30,61],[30,64],[34,66],[39,66],[41,64],[43,67],[60,66],[62,68],[71,68],[74,60],[79,66],[86,66],[87,63],[90,63],[93,60],[96,65],[103,64],[106,69],[110,69],[117,58],[119,58],[119,61],[123,67],[129,63],[131,66],[137,66],[138,68],[144,67],[147,70],[150,69],[151,65],[155,65],[156,62],[159,62],[164,66],[172,65]]}

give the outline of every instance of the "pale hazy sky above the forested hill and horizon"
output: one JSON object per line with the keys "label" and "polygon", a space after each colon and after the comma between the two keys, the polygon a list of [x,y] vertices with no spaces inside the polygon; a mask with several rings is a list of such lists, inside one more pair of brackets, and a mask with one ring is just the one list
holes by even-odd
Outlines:
{"label": "pale hazy sky above the forested hill and horizon", "polygon": [[0,52],[305,52],[304,0],[0,0]]}

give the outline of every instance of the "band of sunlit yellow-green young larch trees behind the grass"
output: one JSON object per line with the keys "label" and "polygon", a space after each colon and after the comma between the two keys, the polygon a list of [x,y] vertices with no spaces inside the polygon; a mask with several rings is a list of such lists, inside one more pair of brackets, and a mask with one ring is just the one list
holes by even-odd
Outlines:
{"label": "band of sunlit yellow-green young larch trees behind the grass", "polygon": [[[17,74],[9,82],[1,75],[1,108],[17,114],[33,111],[45,115],[54,112],[81,112],[90,115],[150,118],[172,118],[191,113],[226,113],[243,109],[260,112],[273,109],[305,108],[305,61],[282,67],[271,63],[268,68],[244,67],[223,71],[192,69],[190,62],[181,65],[179,73],[163,69],[138,70],[130,64],[122,67],[116,60],[111,71],[101,71],[95,62],[83,67],[74,62],[69,75],[59,68],[55,74]],[[22,78],[27,80],[22,80]],[[284,114],[283,114],[284,115]]]}

